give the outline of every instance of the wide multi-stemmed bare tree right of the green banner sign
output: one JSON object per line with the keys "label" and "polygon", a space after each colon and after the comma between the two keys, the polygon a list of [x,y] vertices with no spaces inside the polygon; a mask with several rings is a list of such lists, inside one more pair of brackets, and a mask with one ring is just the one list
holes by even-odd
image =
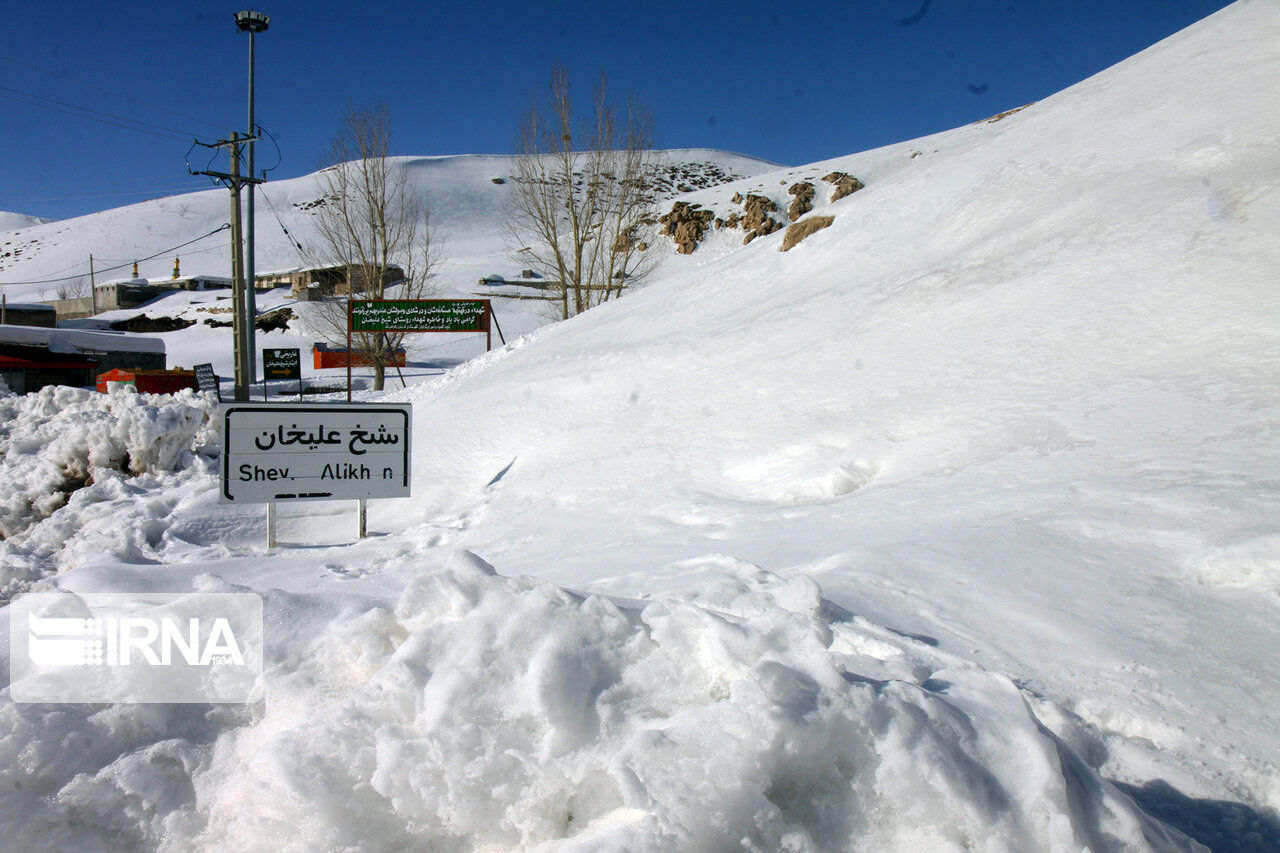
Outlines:
{"label": "wide multi-stemmed bare tree right of the green banner sign", "polygon": [[620,110],[603,76],[591,106],[579,124],[568,72],[554,68],[548,104],[525,114],[509,164],[508,241],[517,260],[559,283],[562,318],[620,296],[653,264],[653,123],[635,101]]}

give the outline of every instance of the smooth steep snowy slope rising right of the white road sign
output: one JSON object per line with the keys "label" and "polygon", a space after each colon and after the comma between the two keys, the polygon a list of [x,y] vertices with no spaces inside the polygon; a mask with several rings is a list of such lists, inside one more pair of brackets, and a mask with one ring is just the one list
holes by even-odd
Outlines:
{"label": "smooth steep snowy slope rising right of the white road sign", "polygon": [[1276,807],[1276,12],[690,196],[867,183],[788,254],[716,233],[411,394],[399,524],[467,517],[503,571],[614,593],[708,553],[808,575],[1062,703],[1107,772]]}

